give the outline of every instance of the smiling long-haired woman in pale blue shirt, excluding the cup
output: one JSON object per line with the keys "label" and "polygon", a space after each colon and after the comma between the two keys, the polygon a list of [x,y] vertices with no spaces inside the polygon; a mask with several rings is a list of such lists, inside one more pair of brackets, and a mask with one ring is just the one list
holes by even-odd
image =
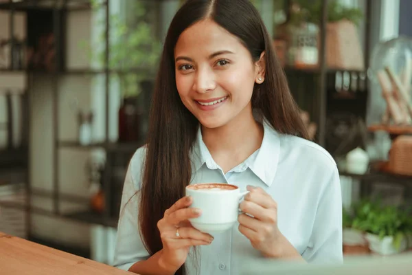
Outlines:
{"label": "smiling long-haired woman in pale blue shirt, excluding the cup", "polygon": [[[249,0],[189,0],[165,39],[148,141],[130,161],[115,266],[138,274],[239,274],[253,259],[342,261],[336,164],[306,140],[271,38]],[[238,224],[187,219],[188,184],[250,190]],[[196,248],[195,248],[196,247]]]}

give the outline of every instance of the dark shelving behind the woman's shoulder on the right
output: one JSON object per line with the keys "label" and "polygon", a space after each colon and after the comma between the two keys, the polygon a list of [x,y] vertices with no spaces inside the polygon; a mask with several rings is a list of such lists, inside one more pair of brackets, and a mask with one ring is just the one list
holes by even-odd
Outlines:
{"label": "dark shelving behind the woman's shoulder on the right", "polygon": [[[288,1],[287,1],[288,2]],[[288,5],[288,3],[286,3]],[[347,111],[348,107],[356,109],[358,116],[361,116],[363,121],[366,119],[366,108],[367,100],[369,94],[369,80],[367,77],[367,69],[365,71],[358,70],[345,70],[345,69],[334,69],[327,67],[325,64],[325,23],[328,18],[328,1],[322,1],[322,15],[321,15],[321,25],[320,25],[320,40],[321,50],[319,51],[320,63],[319,67],[314,68],[295,68],[286,65],[284,71],[288,77],[290,90],[295,97],[299,107],[308,111],[311,114],[311,118],[314,119],[314,122],[317,122],[319,125],[318,135],[316,137],[316,142],[321,146],[325,147],[328,151],[328,144],[325,142],[325,135],[328,133],[328,129],[325,129],[326,120],[330,118],[331,109],[333,111]],[[371,52],[370,39],[371,35],[371,10],[372,10],[372,1],[365,1],[366,12],[364,14],[365,20],[365,35],[363,40],[365,41],[363,53],[364,53],[364,63],[365,67],[369,65],[369,53]],[[356,77],[358,81],[358,87],[362,87],[359,90],[347,89],[347,91],[336,91],[336,74],[348,74],[352,78],[352,74]],[[359,83],[363,81],[363,83]],[[306,108],[307,107],[307,108]],[[384,125],[371,125],[367,127],[365,131],[374,132],[374,131],[387,131],[392,135],[400,134],[412,134],[412,129],[409,127],[403,126],[391,126],[391,129],[388,129]],[[330,153],[332,153],[330,151]],[[345,171],[340,171],[341,176],[350,177],[356,179],[362,184],[362,190],[370,190],[371,186],[374,183],[389,182],[394,184],[401,184],[403,186],[411,186],[412,177],[393,175],[389,173],[380,172],[374,169],[369,169],[365,175],[356,175],[351,173],[346,173]],[[367,195],[369,192],[363,192]]]}

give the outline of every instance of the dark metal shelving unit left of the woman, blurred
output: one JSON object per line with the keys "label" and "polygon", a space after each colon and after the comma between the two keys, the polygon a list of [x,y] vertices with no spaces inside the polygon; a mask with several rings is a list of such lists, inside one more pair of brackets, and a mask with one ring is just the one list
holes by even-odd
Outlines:
{"label": "dark metal shelving unit left of the woman, blurred", "polygon": [[[142,0],[150,1],[152,0]],[[161,2],[163,0],[156,0]],[[6,3],[0,3],[0,11],[7,11],[10,14],[10,33],[14,33],[14,17],[16,12],[25,12],[27,16],[36,12],[47,12],[51,15],[51,28],[52,33],[55,37],[55,51],[56,56],[65,55],[65,35],[64,27],[67,23],[66,14],[68,12],[84,12],[96,8],[95,5],[92,5],[91,0],[22,0],[19,2],[14,2],[12,0]],[[52,83],[52,190],[43,190],[39,188],[34,188],[30,182],[30,148],[28,148],[28,143],[25,144],[24,148],[19,148],[16,150],[7,150],[0,151],[0,185],[1,179],[16,179],[15,174],[23,175],[25,178],[24,186],[19,186],[16,189],[16,194],[14,197],[1,197],[0,196],[0,207],[14,208],[17,210],[24,210],[27,214],[26,225],[27,225],[27,236],[29,239],[38,241],[40,243],[47,243],[46,240],[38,239],[38,236],[35,236],[31,232],[30,224],[32,223],[32,215],[39,214],[45,217],[56,217],[60,219],[66,219],[69,221],[76,221],[80,223],[87,223],[91,225],[104,225],[106,227],[116,228],[117,227],[117,209],[113,206],[113,193],[117,197],[121,195],[122,186],[115,183],[116,175],[119,175],[119,169],[125,168],[127,165],[128,159],[135,152],[137,148],[144,144],[144,139],[142,138],[136,142],[127,142],[127,143],[117,143],[112,142],[109,139],[109,118],[108,110],[110,108],[110,94],[111,94],[111,76],[124,76],[128,74],[142,74],[150,73],[150,68],[147,67],[133,67],[128,69],[115,69],[111,68],[108,65],[110,47],[109,47],[109,36],[110,36],[110,24],[111,24],[111,11],[110,3],[112,1],[98,1],[98,8],[104,10],[104,64],[100,69],[91,69],[89,67],[76,67],[76,69],[71,69],[67,67],[65,61],[62,58],[55,58],[54,67],[56,69],[52,71],[47,71],[44,69],[33,69],[32,67],[23,67],[20,69],[0,69],[0,76],[12,76],[12,75],[21,75],[27,78],[27,98],[31,91],[33,81],[41,78],[47,79]],[[28,24],[28,23],[27,23]],[[27,29],[27,32],[30,32],[30,28]],[[28,36],[29,34],[27,34]],[[14,42],[14,41],[13,41]],[[12,45],[13,47],[13,45]],[[151,72],[152,75],[155,75],[155,72]],[[104,78],[104,87],[102,89],[104,96],[104,140],[100,142],[93,142],[89,145],[82,145],[77,140],[73,139],[60,139],[60,127],[59,124],[59,113],[60,113],[60,93],[61,87],[59,86],[59,81],[63,78],[70,76],[82,78],[82,77],[103,77]],[[1,79],[1,78],[0,78]],[[1,86],[1,85],[0,85]],[[27,111],[27,114],[30,114],[30,111]],[[28,121],[27,118],[25,120]],[[1,127],[8,127],[8,125],[2,125]],[[27,131],[27,137],[25,140],[31,140],[30,129]],[[63,203],[76,203],[78,206],[84,206],[84,208],[90,209],[90,198],[87,194],[73,195],[65,193],[62,189],[64,186],[61,186],[61,163],[59,161],[60,154],[62,151],[65,152],[93,152],[100,151],[104,152],[105,157],[105,168],[102,173],[102,189],[104,192],[105,205],[102,212],[93,212],[93,210],[77,210],[75,212],[68,212],[67,210],[62,210],[61,206]],[[3,169],[3,164],[7,164],[8,167],[16,167],[17,164],[23,165],[23,168],[14,168],[14,170],[5,170]],[[18,166],[21,167],[21,166]],[[117,176],[119,179],[119,176]],[[118,180],[117,180],[118,181]],[[120,190],[120,193],[119,193]],[[33,200],[43,199],[44,201],[52,201],[52,208],[48,206],[34,206],[32,204]],[[119,203],[119,201],[115,201]],[[54,245],[56,248],[57,246]],[[71,248],[76,250],[77,248]]]}

